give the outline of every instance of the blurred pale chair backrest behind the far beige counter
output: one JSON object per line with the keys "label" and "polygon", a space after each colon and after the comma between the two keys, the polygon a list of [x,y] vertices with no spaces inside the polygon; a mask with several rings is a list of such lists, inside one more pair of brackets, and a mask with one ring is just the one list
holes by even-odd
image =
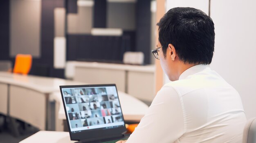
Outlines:
{"label": "blurred pale chair backrest behind the far beige counter", "polygon": [[123,63],[133,64],[133,65],[143,65],[144,54],[143,52],[125,52],[123,57]]}

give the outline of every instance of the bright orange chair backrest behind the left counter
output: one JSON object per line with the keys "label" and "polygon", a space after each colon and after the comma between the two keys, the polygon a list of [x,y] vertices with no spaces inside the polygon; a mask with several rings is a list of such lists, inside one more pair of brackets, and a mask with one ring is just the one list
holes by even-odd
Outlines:
{"label": "bright orange chair backrest behind the left counter", "polygon": [[28,74],[32,65],[32,56],[30,54],[17,54],[13,73]]}

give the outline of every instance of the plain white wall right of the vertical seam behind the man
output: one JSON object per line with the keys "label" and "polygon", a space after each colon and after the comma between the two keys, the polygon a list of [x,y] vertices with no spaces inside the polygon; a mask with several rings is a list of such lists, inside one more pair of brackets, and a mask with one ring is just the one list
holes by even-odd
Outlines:
{"label": "plain white wall right of the vertical seam behind the man", "polygon": [[212,0],[215,52],[211,68],[242,98],[247,118],[256,117],[256,1]]}

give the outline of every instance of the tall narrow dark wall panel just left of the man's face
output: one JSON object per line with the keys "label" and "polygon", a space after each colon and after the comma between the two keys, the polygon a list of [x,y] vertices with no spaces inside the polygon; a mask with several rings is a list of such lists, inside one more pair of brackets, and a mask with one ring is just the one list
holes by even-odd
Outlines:
{"label": "tall narrow dark wall panel just left of the man's face", "polygon": [[150,64],[150,0],[138,0],[136,9],[136,51],[144,53],[144,63]]}

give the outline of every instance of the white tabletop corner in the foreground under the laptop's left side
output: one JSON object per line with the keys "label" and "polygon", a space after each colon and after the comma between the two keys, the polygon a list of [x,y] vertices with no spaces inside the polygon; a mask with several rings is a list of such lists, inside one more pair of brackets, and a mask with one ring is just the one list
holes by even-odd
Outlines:
{"label": "white tabletop corner in the foreground under the laptop's left side", "polygon": [[20,143],[74,143],[69,132],[39,131]]}

